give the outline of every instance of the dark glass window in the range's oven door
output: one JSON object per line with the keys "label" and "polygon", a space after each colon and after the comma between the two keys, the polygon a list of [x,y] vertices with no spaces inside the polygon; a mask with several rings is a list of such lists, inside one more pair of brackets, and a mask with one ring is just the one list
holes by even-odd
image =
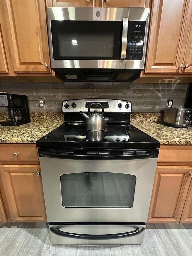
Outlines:
{"label": "dark glass window in the range's oven door", "polygon": [[136,176],[124,173],[90,172],[60,176],[63,207],[131,208]]}

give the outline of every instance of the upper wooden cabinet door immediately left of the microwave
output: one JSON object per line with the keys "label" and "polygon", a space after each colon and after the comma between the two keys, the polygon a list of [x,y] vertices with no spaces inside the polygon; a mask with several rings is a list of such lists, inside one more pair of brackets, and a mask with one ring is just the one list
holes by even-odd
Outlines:
{"label": "upper wooden cabinet door immediately left of the microwave", "polygon": [[0,19],[4,44],[8,45],[13,61],[13,71],[50,73],[45,2],[3,0]]}

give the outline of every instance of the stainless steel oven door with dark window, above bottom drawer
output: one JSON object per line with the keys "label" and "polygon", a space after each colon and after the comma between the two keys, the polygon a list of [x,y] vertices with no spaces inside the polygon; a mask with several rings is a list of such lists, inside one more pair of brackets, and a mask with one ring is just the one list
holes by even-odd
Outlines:
{"label": "stainless steel oven door with dark window, above bottom drawer", "polygon": [[40,157],[47,220],[146,222],[157,158],[144,157]]}

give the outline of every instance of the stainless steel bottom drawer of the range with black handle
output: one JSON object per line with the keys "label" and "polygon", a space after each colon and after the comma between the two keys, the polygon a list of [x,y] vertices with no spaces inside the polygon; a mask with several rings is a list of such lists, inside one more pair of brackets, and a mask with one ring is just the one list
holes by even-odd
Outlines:
{"label": "stainless steel bottom drawer of the range with black handle", "polygon": [[141,244],[145,223],[49,223],[52,244]]}

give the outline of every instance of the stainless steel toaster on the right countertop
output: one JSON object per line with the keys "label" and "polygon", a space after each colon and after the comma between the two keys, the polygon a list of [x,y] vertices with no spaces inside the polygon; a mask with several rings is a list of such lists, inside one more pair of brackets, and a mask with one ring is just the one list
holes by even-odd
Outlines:
{"label": "stainless steel toaster on the right countertop", "polygon": [[173,127],[190,127],[192,109],[167,107],[164,110],[163,124]]}

